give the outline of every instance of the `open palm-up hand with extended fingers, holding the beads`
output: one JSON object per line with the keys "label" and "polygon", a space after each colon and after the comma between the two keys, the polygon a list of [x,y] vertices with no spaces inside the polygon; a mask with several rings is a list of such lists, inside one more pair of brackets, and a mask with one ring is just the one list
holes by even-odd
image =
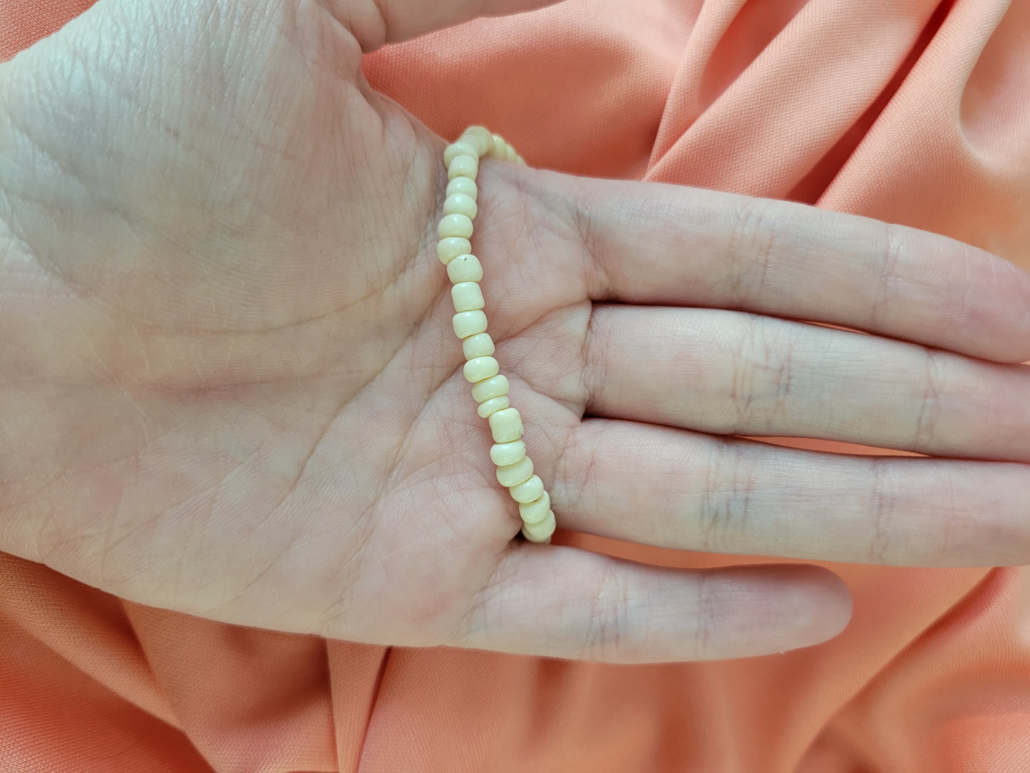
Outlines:
{"label": "open palm-up hand with extended fingers, holding the beads", "polygon": [[[459,6],[101,0],[0,69],[0,549],[145,604],[384,644],[639,662],[834,635],[850,602],[824,569],[512,541],[435,257],[443,143],[358,69]],[[479,188],[490,332],[559,527],[1030,556],[1030,376],[996,364],[1030,358],[1019,270],[706,191],[494,161]]]}

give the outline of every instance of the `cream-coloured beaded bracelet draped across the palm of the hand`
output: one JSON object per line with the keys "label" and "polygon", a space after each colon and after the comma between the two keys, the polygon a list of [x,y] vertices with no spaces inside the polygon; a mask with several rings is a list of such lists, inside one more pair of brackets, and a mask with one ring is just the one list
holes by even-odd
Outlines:
{"label": "cream-coloured beaded bracelet draped across the palm of the hand", "polygon": [[469,127],[447,146],[444,166],[449,182],[444,216],[437,228],[437,255],[447,266],[447,276],[453,283],[454,333],[461,339],[465,377],[472,382],[472,397],[479,403],[477,412],[490,424],[490,461],[497,467],[497,482],[507,486],[518,502],[522,536],[533,542],[550,542],[554,534],[551,498],[540,476],[533,473],[533,460],[526,456],[522,441],[522,417],[511,407],[508,378],[501,375],[501,367],[493,359],[493,339],[486,332],[483,293],[479,289],[483,267],[472,254],[469,241],[477,212],[476,173],[484,156],[525,163],[501,135],[490,134],[481,126]]}

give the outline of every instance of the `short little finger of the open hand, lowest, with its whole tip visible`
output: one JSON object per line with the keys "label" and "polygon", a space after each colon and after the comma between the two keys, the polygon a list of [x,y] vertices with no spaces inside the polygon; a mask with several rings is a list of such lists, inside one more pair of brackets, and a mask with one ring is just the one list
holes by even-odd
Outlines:
{"label": "short little finger of the open hand, lowest, with its whole tip visible", "polygon": [[825,641],[850,616],[844,583],[818,567],[678,571],[516,543],[458,643],[608,663],[747,658]]}

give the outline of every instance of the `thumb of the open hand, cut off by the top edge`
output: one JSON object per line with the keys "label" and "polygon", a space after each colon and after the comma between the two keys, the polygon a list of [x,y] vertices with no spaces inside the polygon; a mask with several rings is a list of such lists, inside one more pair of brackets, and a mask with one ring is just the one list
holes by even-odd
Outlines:
{"label": "thumb of the open hand, cut off by the top edge", "polygon": [[368,54],[477,16],[503,16],[542,8],[557,0],[323,0]]}

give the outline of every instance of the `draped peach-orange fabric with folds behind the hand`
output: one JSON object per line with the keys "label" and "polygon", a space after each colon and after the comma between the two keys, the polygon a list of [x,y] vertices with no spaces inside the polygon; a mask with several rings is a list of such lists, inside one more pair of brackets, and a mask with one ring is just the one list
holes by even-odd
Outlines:
{"label": "draped peach-orange fabric with folds behind the hand", "polygon": [[[89,4],[0,0],[0,57]],[[1030,269],[1028,41],[1004,0],[573,0],[366,74],[534,165],[808,201]],[[613,667],[234,628],[0,554],[0,770],[1030,769],[1028,572],[831,568],[855,616],[827,644]]]}

